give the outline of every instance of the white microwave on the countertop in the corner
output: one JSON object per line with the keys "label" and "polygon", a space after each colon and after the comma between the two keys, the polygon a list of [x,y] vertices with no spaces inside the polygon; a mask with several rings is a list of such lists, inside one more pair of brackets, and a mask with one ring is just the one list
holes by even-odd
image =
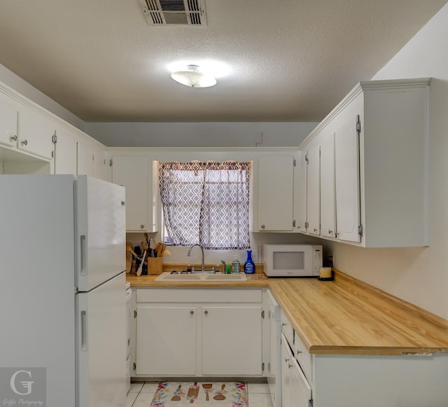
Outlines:
{"label": "white microwave on the countertop in the corner", "polygon": [[318,244],[263,244],[263,270],[269,277],[318,277],[322,258]]}

